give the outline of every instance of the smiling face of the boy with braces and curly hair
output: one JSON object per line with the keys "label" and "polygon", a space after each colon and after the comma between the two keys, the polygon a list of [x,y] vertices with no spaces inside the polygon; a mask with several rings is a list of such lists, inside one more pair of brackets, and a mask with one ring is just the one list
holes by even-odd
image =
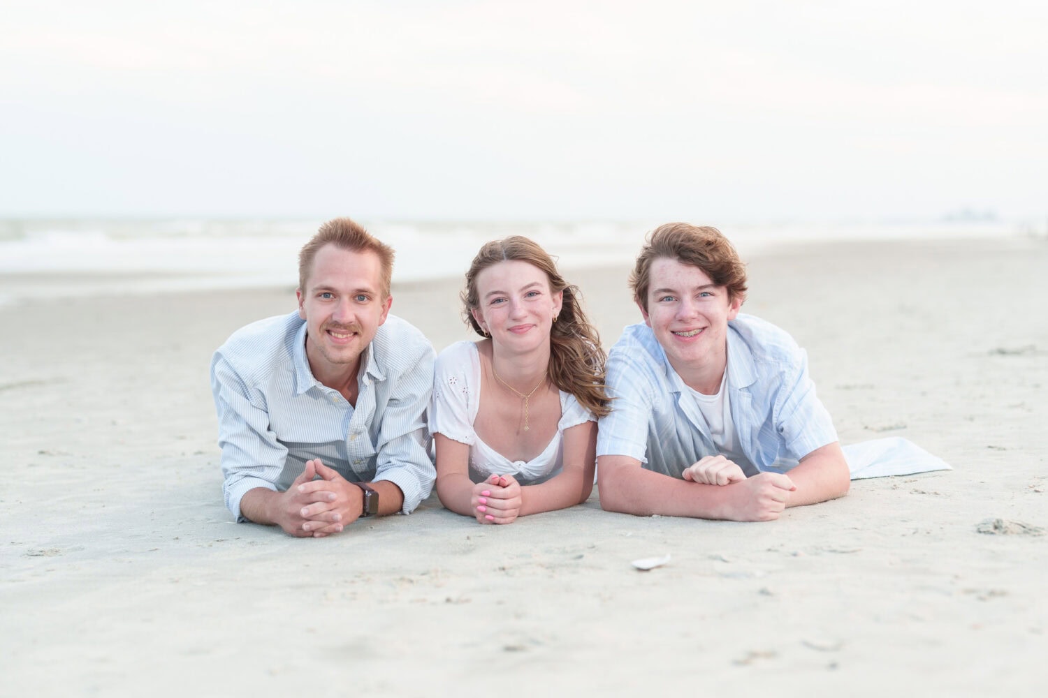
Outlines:
{"label": "smiling face of the boy with braces and curly hair", "polygon": [[659,257],[651,265],[647,300],[647,311],[637,305],[674,370],[689,385],[697,376],[719,383],[727,364],[727,322],[742,299],[730,298],[698,267]]}

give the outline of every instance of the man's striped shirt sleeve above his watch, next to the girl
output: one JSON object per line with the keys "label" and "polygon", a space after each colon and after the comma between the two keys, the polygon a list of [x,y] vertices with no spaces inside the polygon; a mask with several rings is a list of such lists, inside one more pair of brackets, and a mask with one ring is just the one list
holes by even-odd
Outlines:
{"label": "man's striped shirt sleeve above his watch, next to the girl", "polygon": [[433,390],[433,362],[436,354],[421,340],[407,360],[407,368],[396,377],[383,410],[378,429],[375,480],[389,480],[403,493],[401,514],[411,514],[430,496],[437,477],[430,457],[430,432],[425,408]]}

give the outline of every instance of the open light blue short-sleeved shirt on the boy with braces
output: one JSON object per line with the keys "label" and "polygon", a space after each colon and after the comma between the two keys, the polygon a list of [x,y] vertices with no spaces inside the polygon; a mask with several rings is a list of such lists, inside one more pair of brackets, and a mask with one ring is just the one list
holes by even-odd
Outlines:
{"label": "open light blue short-sleeved shirt on the boy with braces", "polygon": [[[702,413],[651,329],[633,324],[608,354],[612,411],[599,422],[597,455],[627,455],[645,468],[680,477],[718,453]],[[816,448],[837,441],[815,396],[808,358],[788,334],[751,315],[728,322],[727,381],[732,421],[746,475],[786,472]]]}

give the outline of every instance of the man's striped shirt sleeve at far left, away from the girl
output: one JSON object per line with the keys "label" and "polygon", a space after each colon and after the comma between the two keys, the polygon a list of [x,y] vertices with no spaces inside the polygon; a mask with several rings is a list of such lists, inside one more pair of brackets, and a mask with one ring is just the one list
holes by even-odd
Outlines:
{"label": "man's striped shirt sleeve at far left, away from the girl", "polygon": [[277,490],[287,449],[269,429],[269,413],[232,363],[216,352],[211,362],[211,389],[218,412],[218,446],[222,449],[222,494],[237,517],[248,490]]}

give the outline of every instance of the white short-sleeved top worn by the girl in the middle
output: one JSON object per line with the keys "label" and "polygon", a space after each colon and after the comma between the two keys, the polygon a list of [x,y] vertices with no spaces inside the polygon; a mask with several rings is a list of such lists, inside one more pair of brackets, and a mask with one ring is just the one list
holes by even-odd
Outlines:
{"label": "white short-sleeved top worn by the girl in the middle", "polygon": [[481,441],[473,428],[480,408],[480,352],[474,342],[455,342],[437,357],[430,433],[470,446],[470,479],[474,482],[489,475],[512,475],[521,485],[543,482],[560,473],[564,465],[564,431],[596,421],[573,395],[560,392],[561,420],[549,444],[530,460],[510,460]]}

